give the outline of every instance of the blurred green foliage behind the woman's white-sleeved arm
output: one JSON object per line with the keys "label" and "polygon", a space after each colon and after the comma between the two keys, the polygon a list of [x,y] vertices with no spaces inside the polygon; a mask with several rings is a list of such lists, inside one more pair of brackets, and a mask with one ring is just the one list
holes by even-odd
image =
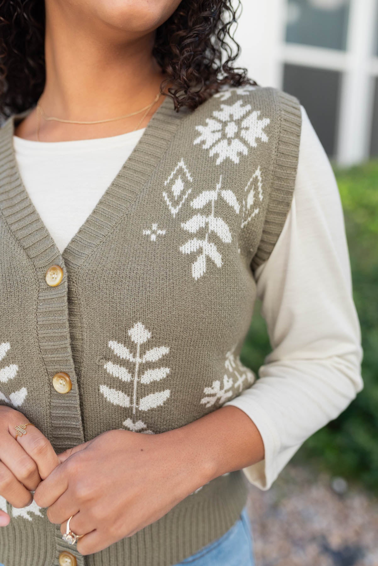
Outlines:
{"label": "blurred green foliage behind the woman's white-sleeved arm", "polygon": [[[353,294],[362,329],[364,389],[334,421],[303,444],[293,463],[311,464],[362,483],[378,494],[378,161],[334,166],[345,215]],[[265,321],[256,304],[240,355],[257,374],[270,351]]]}

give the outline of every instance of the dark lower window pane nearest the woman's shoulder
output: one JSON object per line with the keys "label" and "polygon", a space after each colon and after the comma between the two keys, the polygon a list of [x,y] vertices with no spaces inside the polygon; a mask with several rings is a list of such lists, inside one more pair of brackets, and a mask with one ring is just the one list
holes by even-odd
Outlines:
{"label": "dark lower window pane nearest the woman's shoulder", "polygon": [[297,65],[285,65],[285,92],[297,96],[327,155],[336,153],[336,131],[341,74]]}

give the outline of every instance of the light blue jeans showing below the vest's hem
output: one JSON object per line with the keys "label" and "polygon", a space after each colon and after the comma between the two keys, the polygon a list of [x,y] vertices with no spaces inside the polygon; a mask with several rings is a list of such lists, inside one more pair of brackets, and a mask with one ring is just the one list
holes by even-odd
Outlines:
{"label": "light blue jeans showing below the vest's hem", "polygon": [[207,544],[176,566],[255,566],[250,518],[244,507],[240,518],[221,538]]}

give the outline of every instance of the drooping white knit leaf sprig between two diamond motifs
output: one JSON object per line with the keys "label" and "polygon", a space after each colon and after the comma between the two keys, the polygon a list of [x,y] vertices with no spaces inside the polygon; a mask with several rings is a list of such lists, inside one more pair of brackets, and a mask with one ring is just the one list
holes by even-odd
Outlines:
{"label": "drooping white knit leaf sprig between two diamond motifs", "polygon": [[[229,226],[219,216],[215,216],[215,204],[220,194],[227,204],[239,214],[240,205],[233,191],[221,191],[222,175],[220,176],[217,188],[214,191],[203,191],[199,196],[191,201],[192,208],[199,209],[205,208],[211,204],[211,212],[209,215],[196,214],[189,218],[186,222],[182,222],[181,226],[184,230],[191,234],[196,234],[201,229],[207,226],[207,233],[204,238],[192,238],[180,246],[180,251],[183,254],[192,254],[199,250],[202,253],[197,256],[197,259],[192,263],[192,276],[195,280],[199,279],[206,272],[206,258],[210,258],[217,267],[222,267],[222,256],[218,251],[217,245],[214,242],[209,242],[211,234],[215,234],[223,243],[232,242],[232,235]],[[224,194],[222,194],[224,193]]]}

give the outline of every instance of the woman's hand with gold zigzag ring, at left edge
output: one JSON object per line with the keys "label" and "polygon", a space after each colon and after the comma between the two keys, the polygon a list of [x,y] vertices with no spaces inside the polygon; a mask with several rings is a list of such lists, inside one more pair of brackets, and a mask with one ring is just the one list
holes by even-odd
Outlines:
{"label": "woman's hand with gold zigzag ring, at left edge", "polygon": [[[59,464],[49,440],[35,426],[16,439],[15,426],[28,422],[19,411],[0,405],[0,495],[18,508],[32,503],[31,491]],[[10,516],[0,511],[0,526],[9,521]]]}

